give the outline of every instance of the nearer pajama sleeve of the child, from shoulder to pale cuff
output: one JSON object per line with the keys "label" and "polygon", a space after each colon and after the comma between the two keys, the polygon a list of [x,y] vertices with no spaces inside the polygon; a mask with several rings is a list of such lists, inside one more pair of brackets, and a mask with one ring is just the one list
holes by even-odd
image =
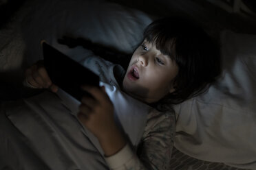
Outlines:
{"label": "nearer pajama sleeve of the child, from shoulder to pale cuff", "polygon": [[110,169],[170,169],[175,130],[171,114],[150,112],[138,147],[138,154],[126,145],[114,156],[105,158]]}

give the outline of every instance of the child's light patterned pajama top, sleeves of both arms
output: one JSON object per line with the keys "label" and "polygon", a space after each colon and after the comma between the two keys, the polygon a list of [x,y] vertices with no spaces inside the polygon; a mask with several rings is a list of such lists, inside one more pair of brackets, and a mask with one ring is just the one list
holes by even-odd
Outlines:
{"label": "child's light patterned pajama top, sleeves of both arms", "polygon": [[[76,53],[79,50],[81,48],[78,47]],[[67,49],[64,51],[72,54]],[[85,55],[84,51],[83,54]],[[125,73],[121,66],[94,56],[89,51],[86,56],[85,60],[80,61],[81,64],[99,75],[100,81],[120,89],[120,80]],[[147,114],[147,123],[139,145],[134,149],[134,146],[127,144],[113,156],[105,157],[105,161],[110,169],[170,169],[174,133],[174,113],[153,109]]]}

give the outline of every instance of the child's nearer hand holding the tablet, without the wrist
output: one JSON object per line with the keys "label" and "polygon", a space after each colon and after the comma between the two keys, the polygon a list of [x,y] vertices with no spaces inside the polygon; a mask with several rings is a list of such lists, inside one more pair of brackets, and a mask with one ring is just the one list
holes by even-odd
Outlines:
{"label": "child's nearer hand holding the tablet, without the wrist", "polygon": [[78,119],[97,138],[109,134],[116,127],[114,122],[114,106],[110,101],[105,88],[82,86],[82,89],[91,95],[83,96],[79,107]]}

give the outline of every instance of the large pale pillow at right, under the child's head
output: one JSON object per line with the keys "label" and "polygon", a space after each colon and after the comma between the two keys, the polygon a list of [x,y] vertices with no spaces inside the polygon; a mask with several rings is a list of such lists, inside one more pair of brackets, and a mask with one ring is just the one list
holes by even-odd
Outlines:
{"label": "large pale pillow at right, under the child's head", "polygon": [[222,75],[175,106],[175,147],[193,158],[256,169],[256,35],[221,34]]}

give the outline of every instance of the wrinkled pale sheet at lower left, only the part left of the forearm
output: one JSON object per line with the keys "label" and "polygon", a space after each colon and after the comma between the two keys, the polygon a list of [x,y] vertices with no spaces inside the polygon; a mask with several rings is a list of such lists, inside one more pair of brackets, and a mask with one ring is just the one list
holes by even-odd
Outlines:
{"label": "wrinkled pale sheet at lower left, only the part left of the forearm", "polygon": [[1,109],[1,168],[107,169],[83,127],[55,94],[45,92]]}

